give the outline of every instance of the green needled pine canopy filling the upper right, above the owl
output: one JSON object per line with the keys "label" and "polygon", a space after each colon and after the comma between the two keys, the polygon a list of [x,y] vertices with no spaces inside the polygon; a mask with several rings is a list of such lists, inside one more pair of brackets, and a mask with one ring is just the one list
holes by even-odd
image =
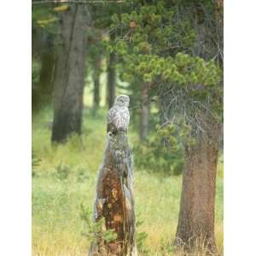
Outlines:
{"label": "green needled pine canopy filling the upper right, above the owl", "polygon": [[[173,97],[179,96],[175,114],[183,115],[186,108],[186,121],[197,125],[196,129],[205,120],[195,119],[195,111],[222,121],[223,71],[216,55],[195,53],[200,40],[195,17],[200,22],[215,22],[215,3],[202,1],[205,13],[195,1],[186,5],[183,1],[136,3],[137,9],[112,19],[117,36],[111,47],[119,56],[120,78],[131,84],[132,95],[150,82],[150,93],[155,96],[167,90],[172,90]],[[160,87],[162,84],[166,87]]]}

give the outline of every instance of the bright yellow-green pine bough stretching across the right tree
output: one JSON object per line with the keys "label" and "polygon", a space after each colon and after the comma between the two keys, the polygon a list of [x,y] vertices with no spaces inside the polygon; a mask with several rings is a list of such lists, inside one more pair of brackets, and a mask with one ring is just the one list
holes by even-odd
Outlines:
{"label": "bright yellow-green pine bough stretching across the right tree", "polygon": [[[118,44],[117,53],[125,52],[124,44]],[[187,54],[177,53],[175,57],[162,57],[159,55],[126,55],[127,67],[125,73],[141,77],[145,82],[158,81],[161,83],[175,83],[177,89],[186,86],[189,91],[193,91],[193,85],[204,84],[201,90],[206,90],[208,86],[220,83],[222,78],[220,69],[213,61],[204,61],[199,57],[192,57]],[[131,77],[131,76],[130,76]],[[131,77],[134,79],[134,77]],[[131,80],[132,82],[132,80]],[[192,94],[190,93],[190,96]],[[196,96],[196,95],[195,95]]]}

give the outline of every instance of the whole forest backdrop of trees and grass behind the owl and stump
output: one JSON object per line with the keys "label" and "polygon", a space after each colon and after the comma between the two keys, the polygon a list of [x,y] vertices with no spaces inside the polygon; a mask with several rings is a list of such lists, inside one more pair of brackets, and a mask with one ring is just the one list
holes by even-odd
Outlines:
{"label": "whole forest backdrop of trees and grass behind the owl and stump", "polygon": [[139,253],[178,255],[180,240],[198,253],[201,235],[222,253],[222,1],[57,2],[32,1],[34,255],[86,254],[80,203],[92,208],[119,94]]}

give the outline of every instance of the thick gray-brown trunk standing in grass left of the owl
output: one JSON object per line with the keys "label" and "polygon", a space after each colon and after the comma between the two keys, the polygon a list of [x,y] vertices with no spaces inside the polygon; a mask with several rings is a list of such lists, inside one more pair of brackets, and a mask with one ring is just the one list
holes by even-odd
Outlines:
{"label": "thick gray-brown trunk standing in grass left of the owl", "polygon": [[76,3],[61,14],[61,40],[54,84],[53,143],[62,143],[72,133],[81,133],[87,19],[84,10],[84,4]]}

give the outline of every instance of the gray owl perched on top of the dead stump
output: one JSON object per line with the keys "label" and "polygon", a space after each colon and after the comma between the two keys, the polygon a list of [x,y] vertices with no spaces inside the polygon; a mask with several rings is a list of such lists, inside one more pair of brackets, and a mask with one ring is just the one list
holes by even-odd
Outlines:
{"label": "gray owl perched on top of the dead stump", "polygon": [[120,95],[116,97],[113,107],[108,111],[108,134],[115,135],[117,131],[128,130],[130,121],[129,102],[129,96]]}

